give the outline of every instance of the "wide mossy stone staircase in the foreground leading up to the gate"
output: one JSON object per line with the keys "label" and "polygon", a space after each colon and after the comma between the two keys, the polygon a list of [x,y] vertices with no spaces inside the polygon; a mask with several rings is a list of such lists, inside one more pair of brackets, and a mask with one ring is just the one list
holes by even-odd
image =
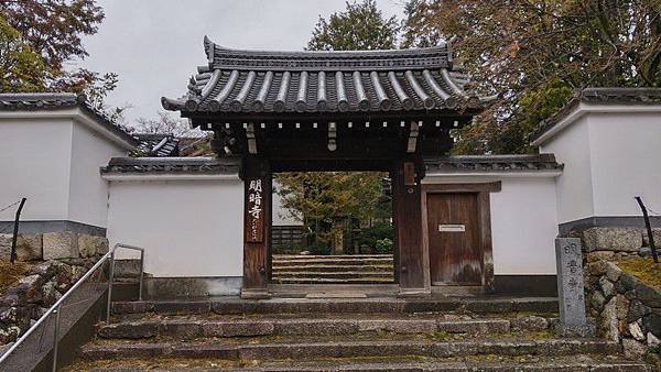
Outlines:
{"label": "wide mossy stone staircase in the foreground leading up to the gate", "polygon": [[652,371],[553,298],[116,302],[69,371]]}

